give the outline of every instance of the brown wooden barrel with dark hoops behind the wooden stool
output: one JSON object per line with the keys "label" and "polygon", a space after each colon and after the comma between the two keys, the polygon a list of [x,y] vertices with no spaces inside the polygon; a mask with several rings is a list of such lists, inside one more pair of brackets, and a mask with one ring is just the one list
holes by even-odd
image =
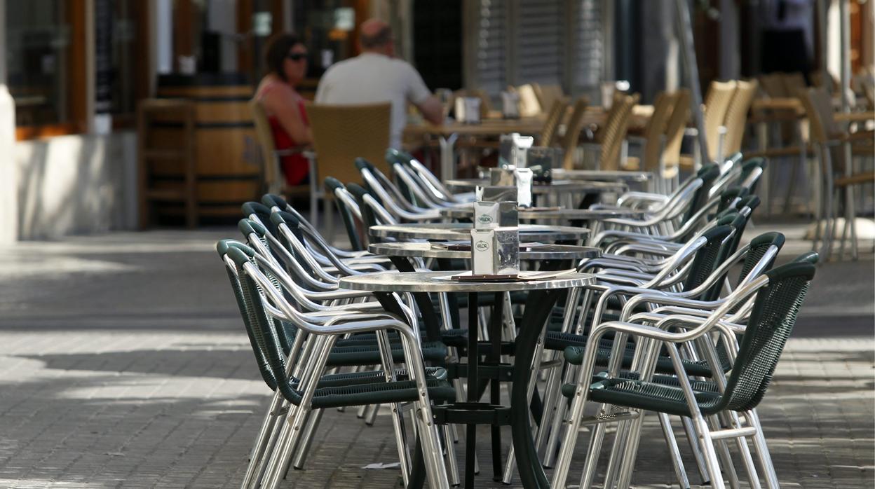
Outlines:
{"label": "brown wooden barrel with dark hoops behind the wooden stool", "polygon": [[[197,75],[169,74],[158,77],[158,97],[185,99],[193,104],[193,142],[197,174],[198,213],[201,216],[239,217],[240,206],[258,200],[262,192],[262,169],[252,156],[255,125],[248,101],[253,89],[242,73]],[[147,144],[172,149],[185,144],[185,124],[169,115],[154,120]],[[151,164],[157,185],[174,185],[183,176],[182,165],[171,159]],[[178,185],[178,184],[177,184]],[[165,211],[165,212],[162,212]],[[159,213],[177,214],[179,206],[162,205]]]}

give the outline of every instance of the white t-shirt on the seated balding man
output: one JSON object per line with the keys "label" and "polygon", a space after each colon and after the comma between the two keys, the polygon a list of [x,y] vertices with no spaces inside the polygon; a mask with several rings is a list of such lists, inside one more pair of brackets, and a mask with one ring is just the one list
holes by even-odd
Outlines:
{"label": "white t-shirt on the seated balding man", "polygon": [[316,91],[317,103],[359,104],[392,102],[389,144],[401,149],[407,124],[407,101],[419,105],[431,95],[416,68],[402,59],[364,52],[328,68]]}

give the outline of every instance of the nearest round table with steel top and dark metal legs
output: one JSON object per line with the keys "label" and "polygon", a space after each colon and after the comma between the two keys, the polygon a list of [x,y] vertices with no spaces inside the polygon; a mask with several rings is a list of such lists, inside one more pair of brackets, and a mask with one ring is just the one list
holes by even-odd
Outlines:
{"label": "nearest round table with steel top and dark metal legs", "polygon": [[[501,304],[500,300],[503,300],[503,298],[499,299],[499,297],[503,297],[505,292],[529,291],[525,311],[520,322],[520,336],[515,346],[515,362],[511,377],[514,388],[511,389],[510,408],[508,409],[500,405],[500,380],[495,377],[490,377],[490,403],[479,402],[479,376],[486,372],[486,370],[482,370],[479,367],[480,355],[477,338],[479,328],[475,326],[468,328],[466,366],[468,396],[466,402],[457,402],[432,408],[436,423],[467,425],[465,436],[465,487],[473,487],[473,454],[476,451],[478,424],[489,424],[492,426],[494,479],[500,480],[503,468],[500,450],[500,427],[502,425],[511,426],[514,450],[517,454],[524,453],[530,456],[531,452],[534,451],[535,443],[532,440],[528,424],[528,384],[530,383],[529,377],[532,374],[532,365],[535,360],[535,344],[538,342],[537,339],[541,335],[543,325],[546,324],[553,305],[556,304],[556,300],[563,290],[590,285],[595,282],[595,276],[574,272],[545,280],[492,282],[452,279],[451,276],[456,274],[458,272],[378,272],[342,277],[339,281],[339,287],[350,290],[372,291],[387,311],[394,312],[402,318],[405,316],[402,313],[401,305],[395,299],[395,292],[410,292],[414,296],[424,297],[428,301],[430,301],[428,298],[429,293],[432,292],[467,293],[469,295],[468,304],[479,304],[477,297],[479,292],[492,292],[496,294],[497,300],[495,304]],[[419,302],[419,299],[417,299],[417,302]],[[430,305],[428,308],[423,308],[423,303],[420,303],[420,309],[423,312],[433,311],[433,306]],[[483,367],[486,369],[491,368],[495,372],[500,371],[502,367],[502,364],[500,364],[500,332],[503,309],[501,305],[493,307],[493,313],[488,325],[491,349],[488,359],[483,364]],[[468,307],[468,324],[478,324],[477,307]],[[525,336],[530,343],[528,345],[521,343],[524,332],[527,333]],[[533,335],[534,340],[531,339]],[[498,376],[500,377],[500,375]],[[528,467],[523,466],[524,464],[517,465],[520,466],[521,474],[525,472],[528,475],[531,472]],[[415,466],[414,472],[421,471],[417,471]],[[411,474],[410,480],[421,480],[421,477],[422,474],[414,473]]]}

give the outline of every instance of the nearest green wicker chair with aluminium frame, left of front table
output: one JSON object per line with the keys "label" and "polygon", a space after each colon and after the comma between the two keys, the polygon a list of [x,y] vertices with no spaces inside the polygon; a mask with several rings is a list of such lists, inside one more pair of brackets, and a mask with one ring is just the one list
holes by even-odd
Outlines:
{"label": "nearest green wicker chair with aluminium frame, left of front table", "polygon": [[[259,371],[268,386],[276,391],[256,439],[244,486],[257,485],[262,477],[264,486],[276,486],[296,447],[300,445],[305,450],[307,446],[300,433],[312,433],[315,429],[312,423],[314,416],[309,414],[311,410],[381,402],[418,402],[420,409],[430,413],[427,406],[429,398],[437,401],[455,399],[455,391],[445,380],[443,368],[423,369],[419,348],[416,342],[410,341],[415,336],[409,333],[409,326],[385,312],[340,311],[342,316],[334,315],[332,318],[301,314],[283,297],[283,293],[289,293],[290,290],[279,281],[269,278],[281,273],[280,269],[273,266],[272,259],[257,255],[254,249],[235,241],[220,241],[217,248],[228,267],[228,276]],[[262,268],[269,272],[262,273]],[[326,318],[328,320],[325,323]],[[319,327],[317,319],[321,319],[324,326]],[[359,322],[340,325],[342,321],[353,320]],[[290,323],[294,323],[291,328]],[[302,327],[304,331],[301,331]],[[389,346],[391,341],[385,334],[387,328],[394,329],[395,336],[402,339],[400,355],[395,354],[395,346]],[[371,340],[361,338],[374,336],[374,331],[378,337],[383,335],[376,348],[378,358],[374,362],[384,366],[382,371],[324,374],[325,367],[331,367],[330,364],[336,363],[338,357],[341,364],[346,364],[343,361],[346,357],[360,360],[357,355],[362,347],[372,349],[369,345]],[[339,339],[339,335],[351,336],[349,339]],[[368,360],[368,363],[373,362],[373,359]],[[406,370],[392,367],[395,361],[408,363],[418,374],[411,379]],[[409,461],[406,460],[407,451],[402,446],[402,420],[398,412],[400,409],[395,409],[393,415],[396,442],[399,444],[406,478]],[[283,416],[288,418],[289,423],[279,423]],[[430,414],[420,421],[424,420],[430,420]],[[437,447],[437,453],[440,453],[436,432],[423,424],[417,433],[423,438],[423,443],[432,445],[428,447],[429,450]],[[443,463],[439,457],[426,457],[431,483],[446,486]]]}

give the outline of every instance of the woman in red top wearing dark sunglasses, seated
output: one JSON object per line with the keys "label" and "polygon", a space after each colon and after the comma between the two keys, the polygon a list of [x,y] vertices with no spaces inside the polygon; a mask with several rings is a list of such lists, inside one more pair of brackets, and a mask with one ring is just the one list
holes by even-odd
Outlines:
{"label": "woman in red top wearing dark sunglasses, seated", "polygon": [[[295,90],[307,73],[307,48],[297,36],[282,34],[270,41],[265,62],[268,73],[259,83],[255,99],[264,106],[276,150],[310,144],[312,134],[304,111],[304,98]],[[281,166],[288,185],[307,182],[309,167],[304,155],[284,156]]]}

